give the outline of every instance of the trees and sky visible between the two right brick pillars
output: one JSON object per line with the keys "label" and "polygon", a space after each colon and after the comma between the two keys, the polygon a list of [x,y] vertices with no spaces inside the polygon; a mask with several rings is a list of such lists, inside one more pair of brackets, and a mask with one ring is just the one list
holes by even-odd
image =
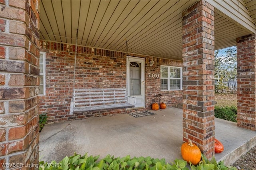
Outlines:
{"label": "trees and sky visible between the two right brick pillars", "polygon": [[232,82],[231,86],[236,82],[236,46],[216,50],[214,58],[215,92],[224,93],[230,90],[230,82]]}

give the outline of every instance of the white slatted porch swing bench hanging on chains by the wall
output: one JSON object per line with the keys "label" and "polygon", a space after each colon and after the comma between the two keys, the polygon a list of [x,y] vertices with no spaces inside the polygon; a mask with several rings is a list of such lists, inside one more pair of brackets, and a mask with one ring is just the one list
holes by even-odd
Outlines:
{"label": "white slatted porch swing bench hanging on chains by the wall", "polygon": [[[134,105],[128,103],[126,89],[124,88],[103,88],[103,89],[76,89],[75,74],[76,74],[76,55],[77,55],[78,30],[76,32],[76,51],[74,61],[74,76],[73,76],[73,95],[70,103],[70,115],[74,113],[84,113],[91,111],[100,111],[108,109],[126,109],[136,107],[136,98]],[[127,46],[127,42],[126,42]],[[127,47],[126,47],[127,55]]]}

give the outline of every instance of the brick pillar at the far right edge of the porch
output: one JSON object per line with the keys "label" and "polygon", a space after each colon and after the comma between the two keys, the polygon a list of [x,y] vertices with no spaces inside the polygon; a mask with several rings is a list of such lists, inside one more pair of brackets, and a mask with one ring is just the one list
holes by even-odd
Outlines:
{"label": "brick pillar at the far right edge of the porch", "polygon": [[256,38],[255,34],[236,39],[237,125],[256,130]]}

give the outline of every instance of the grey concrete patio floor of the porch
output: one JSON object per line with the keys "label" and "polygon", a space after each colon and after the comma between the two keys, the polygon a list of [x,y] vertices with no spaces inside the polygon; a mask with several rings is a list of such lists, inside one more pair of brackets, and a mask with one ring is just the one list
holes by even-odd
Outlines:
{"label": "grey concrete patio floor of the porch", "polygon": [[[59,162],[74,152],[84,155],[107,154],[182,159],[182,109],[151,111],[155,115],[132,117],[129,114],[65,121],[46,125],[40,133],[39,158]],[[217,161],[233,164],[256,145],[256,132],[239,128],[236,123],[215,119],[215,137],[224,151],[215,154]]]}

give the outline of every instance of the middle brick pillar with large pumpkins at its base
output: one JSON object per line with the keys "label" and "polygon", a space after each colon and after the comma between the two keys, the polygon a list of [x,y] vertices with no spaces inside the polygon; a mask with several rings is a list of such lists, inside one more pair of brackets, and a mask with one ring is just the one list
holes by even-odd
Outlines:
{"label": "middle brick pillar with large pumpkins at its base", "polygon": [[214,7],[201,0],[183,12],[183,140],[214,155]]}

